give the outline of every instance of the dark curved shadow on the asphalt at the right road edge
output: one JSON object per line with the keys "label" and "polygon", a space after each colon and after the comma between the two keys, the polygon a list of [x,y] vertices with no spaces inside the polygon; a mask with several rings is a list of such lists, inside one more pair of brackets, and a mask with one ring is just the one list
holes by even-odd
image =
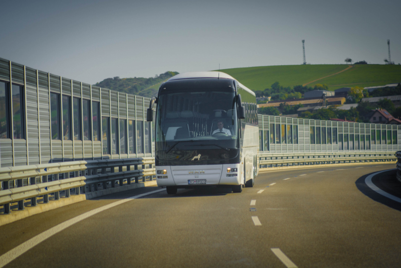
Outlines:
{"label": "dark curved shadow on the asphalt at the right road edge", "polygon": [[[362,177],[360,177],[355,181],[355,185],[358,188],[358,190],[376,202],[382,203],[383,205],[401,211],[401,203],[375,192],[369,186],[366,185],[365,178],[373,173],[375,172],[363,175]],[[395,197],[401,198],[401,182],[399,182],[396,179],[395,173],[396,169],[382,172],[380,174],[373,176],[372,182],[376,187],[380,188],[381,190]]]}

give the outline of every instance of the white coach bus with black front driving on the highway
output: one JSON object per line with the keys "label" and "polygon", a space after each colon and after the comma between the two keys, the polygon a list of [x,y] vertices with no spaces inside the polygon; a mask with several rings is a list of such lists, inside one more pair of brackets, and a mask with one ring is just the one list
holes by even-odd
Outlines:
{"label": "white coach bus with black front driving on the highway", "polygon": [[183,73],[160,85],[155,122],[157,186],[252,187],[259,170],[255,93],[222,72]]}

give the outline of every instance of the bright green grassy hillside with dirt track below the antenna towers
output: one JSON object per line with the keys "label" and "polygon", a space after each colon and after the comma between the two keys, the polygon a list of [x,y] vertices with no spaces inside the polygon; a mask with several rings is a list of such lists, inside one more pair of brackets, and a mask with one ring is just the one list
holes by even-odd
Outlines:
{"label": "bright green grassy hillside with dirt track below the antenna towers", "polygon": [[[288,65],[221,70],[254,91],[264,90],[279,82],[284,87],[303,85],[338,73],[348,65]],[[345,72],[308,84],[326,84],[329,90],[342,87],[371,87],[401,82],[401,65],[353,65]]]}

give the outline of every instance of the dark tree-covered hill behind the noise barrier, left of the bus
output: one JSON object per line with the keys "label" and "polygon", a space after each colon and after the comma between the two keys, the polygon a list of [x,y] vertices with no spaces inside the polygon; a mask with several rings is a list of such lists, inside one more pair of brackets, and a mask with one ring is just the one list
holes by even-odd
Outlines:
{"label": "dark tree-covered hill behind the noise barrier, left of the bus", "polygon": [[150,78],[119,78],[117,76],[106,78],[102,82],[96,83],[96,86],[143,97],[153,97],[157,95],[160,84],[176,74],[178,73],[165,72],[164,74]]}

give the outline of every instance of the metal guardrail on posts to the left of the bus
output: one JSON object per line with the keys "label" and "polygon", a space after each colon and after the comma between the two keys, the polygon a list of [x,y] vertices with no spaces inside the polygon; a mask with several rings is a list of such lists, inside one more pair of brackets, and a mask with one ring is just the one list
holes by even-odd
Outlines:
{"label": "metal guardrail on posts to the left of the bus", "polygon": [[[146,168],[146,165],[149,167]],[[99,186],[107,189],[109,184],[113,188],[116,181],[123,186],[124,181],[131,184],[132,179],[139,183],[140,177],[143,182],[146,177],[153,180],[153,165],[154,158],[149,157],[0,168],[0,183],[3,184],[0,205],[4,206],[4,213],[9,214],[12,203],[18,202],[18,209],[23,210],[27,199],[30,199],[31,206],[36,206],[38,197],[43,196],[43,202],[48,203],[49,194],[54,194],[54,199],[58,200],[61,191],[64,191],[65,197],[70,197],[71,190],[81,194],[101,190]],[[63,174],[62,179],[59,179],[60,174]],[[52,175],[52,181],[48,181],[49,175]],[[38,177],[40,183],[37,183]],[[10,181],[16,183],[10,187]]]}

